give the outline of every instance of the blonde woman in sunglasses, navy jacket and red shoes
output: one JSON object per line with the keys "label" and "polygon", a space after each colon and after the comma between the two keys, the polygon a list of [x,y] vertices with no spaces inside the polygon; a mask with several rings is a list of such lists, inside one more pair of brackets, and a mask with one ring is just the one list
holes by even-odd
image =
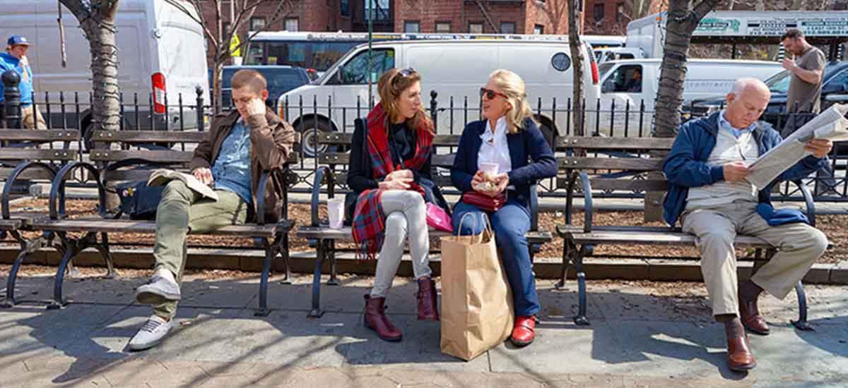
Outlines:
{"label": "blonde woman in sunglasses, navy jacket and red shoes", "polygon": [[[454,230],[480,234],[486,225],[473,219],[488,215],[512,290],[516,321],[510,341],[527,346],[535,337],[539,310],[525,237],[530,230],[530,186],[556,175],[556,158],[533,121],[521,77],[495,70],[480,88],[480,103],[485,119],[466,125],[450,170],[450,179],[462,191],[454,208]],[[497,165],[494,175],[485,172],[492,165]],[[467,213],[473,215],[463,218]]]}

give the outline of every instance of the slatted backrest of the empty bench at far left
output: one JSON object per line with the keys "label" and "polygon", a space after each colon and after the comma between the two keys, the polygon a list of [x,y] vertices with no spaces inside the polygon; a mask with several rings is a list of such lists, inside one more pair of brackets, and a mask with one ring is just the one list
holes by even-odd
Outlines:
{"label": "slatted backrest of the empty bench at far left", "polygon": [[[79,130],[0,130],[0,179],[5,180],[15,166],[26,161],[52,165],[80,158],[80,150],[70,144],[80,139]],[[60,142],[60,144],[53,144]],[[43,169],[27,169],[21,179],[50,180]]]}

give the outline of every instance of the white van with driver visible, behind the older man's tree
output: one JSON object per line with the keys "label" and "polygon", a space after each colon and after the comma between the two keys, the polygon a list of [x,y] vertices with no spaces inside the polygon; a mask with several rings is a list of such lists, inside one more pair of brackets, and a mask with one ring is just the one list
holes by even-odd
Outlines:
{"label": "white van with driver visible, behind the older man's tree", "polygon": [[[638,136],[637,134],[641,133],[640,136],[650,136],[654,100],[660,86],[661,64],[662,59],[648,58],[611,61],[598,65],[601,109],[597,116],[601,123],[601,134]],[[766,80],[783,69],[778,62],[730,59],[689,59],[686,68],[683,105],[698,98],[725,94],[739,78],[754,77]],[[644,114],[640,114],[643,103]],[[628,106],[630,114],[625,118]],[[596,110],[591,105],[589,108]],[[593,112],[587,113],[592,114]],[[611,133],[611,129],[614,133]]]}

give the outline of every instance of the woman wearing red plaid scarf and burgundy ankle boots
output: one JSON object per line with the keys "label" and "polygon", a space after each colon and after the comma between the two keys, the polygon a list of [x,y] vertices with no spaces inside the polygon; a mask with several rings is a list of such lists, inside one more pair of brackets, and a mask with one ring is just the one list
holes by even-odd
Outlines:
{"label": "woman wearing red plaid scarf and burgundy ankle boots", "polygon": [[409,239],[418,281],[418,319],[438,320],[426,204],[444,210],[448,205],[432,182],[433,125],[421,105],[421,75],[414,69],[389,69],[377,90],[380,103],[368,114],[365,136],[363,128],[354,131],[348,186],[356,197],[350,203],[355,206],[354,241],[365,258],[375,258],[379,252],[374,286],[365,295],[365,327],[383,340],[400,341],[402,333],[384,310],[404,240]]}

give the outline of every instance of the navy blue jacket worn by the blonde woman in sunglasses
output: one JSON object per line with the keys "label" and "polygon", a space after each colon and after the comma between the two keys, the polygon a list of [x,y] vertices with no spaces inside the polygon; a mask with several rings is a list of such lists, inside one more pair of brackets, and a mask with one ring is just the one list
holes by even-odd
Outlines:
{"label": "navy blue jacket worn by the blonde woman in sunglasses", "polygon": [[[456,150],[454,168],[450,169],[450,180],[462,192],[472,191],[471,179],[477,173],[477,153],[483,140],[480,136],[486,130],[486,120],[474,121],[466,125],[460,137],[460,147]],[[544,140],[542,131],[531,119],[525,119],[524,129],[517,133],[506,134],[510,148],[512,171],[510,186],[516,190],[510,192],[510,199],[516,199],[527,211],[530,210],[530,186],[537,180],[556,176],[556,158]],[[533,160],[531,163],[530,160]]]}

